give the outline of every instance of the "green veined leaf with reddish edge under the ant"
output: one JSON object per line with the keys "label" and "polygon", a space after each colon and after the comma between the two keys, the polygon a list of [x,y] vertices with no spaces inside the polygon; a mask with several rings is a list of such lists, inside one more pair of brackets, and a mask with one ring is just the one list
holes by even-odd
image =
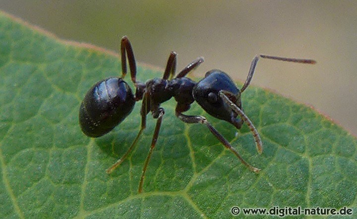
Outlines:
{"label": "green veined leaf with reddish edge under the ant", "polygon": [[[242,102],[263,140],[262,155],[245,125],[237,131],[196,103],[188,114],[206,116],[262,169],[259,174],[203,125],[180,122],[170,100],[138,194],[155,120],[148,117],[135,151],[112,175],[106,168],[139,131],[140,104],[103,137],[89,138],[78,125],[86,91],[119,76],[119,69],[110,52],[60,41],[0,15],[0,218],[227,218],[232,206],[357,211],[356,138],[313,109],[255,87]],[[161,75],[138,66],[141,81]]]}

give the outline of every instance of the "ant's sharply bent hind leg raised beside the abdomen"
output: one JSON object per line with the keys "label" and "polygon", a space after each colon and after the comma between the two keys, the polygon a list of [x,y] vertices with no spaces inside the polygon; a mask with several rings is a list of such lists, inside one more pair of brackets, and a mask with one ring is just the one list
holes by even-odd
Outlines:
{"label": "ant's sharply bent hind leg raised beside the abdomen", "polygon": [[134,51],[132,49],[130,41],[127,39],[126,36],[121,38],[120,53],[121,53],[121,78],[124,79],[126,75],[126,54],[127,54],[129,67],[130,67],[131,81],[134,84],[136,84],[136,62],[134,57]]}

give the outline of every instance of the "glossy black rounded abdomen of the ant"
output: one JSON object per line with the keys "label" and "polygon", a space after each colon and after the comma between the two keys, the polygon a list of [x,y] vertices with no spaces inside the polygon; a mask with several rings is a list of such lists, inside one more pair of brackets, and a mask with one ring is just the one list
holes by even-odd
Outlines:
{"label": "glossy black rounded abdomen of the ant", "polygon": [[121,123],[134,105],[134,95],[126,82],[107,78],[86,93],[79,109],[80,127],[87,136],[102,136]]}

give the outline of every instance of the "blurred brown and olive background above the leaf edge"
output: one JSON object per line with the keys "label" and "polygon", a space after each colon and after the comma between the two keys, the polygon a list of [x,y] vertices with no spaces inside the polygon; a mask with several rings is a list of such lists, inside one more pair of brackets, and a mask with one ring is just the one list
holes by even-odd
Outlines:
{"label": "blurred brown and olive background above the leaf edge", "polygon": [[[357,135],[357,1],[0,0],[0,9],[62,39],[118,50],[178,69],[198,56],[244,81],[255,54],[313,58],[316,65],[261,60],[253,84],[314,106]],[[139,76],[140,78],[140,76]]]}

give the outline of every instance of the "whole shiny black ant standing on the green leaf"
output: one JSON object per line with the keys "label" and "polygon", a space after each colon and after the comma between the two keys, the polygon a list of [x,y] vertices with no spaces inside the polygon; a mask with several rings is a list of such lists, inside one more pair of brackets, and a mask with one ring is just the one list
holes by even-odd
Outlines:
{"label": "whole shiny black ant standing on the green leaf", "polygon": [[[112,173],[132,151],[137,144],[139,137],[146,128],[146,116],[151,112],[154,119],[157,119],[155,131],[151,141],[151,147],[146,157],[138,192],[142,192],[145,172],[150,161],[151,154],[158,139],[161,122],[165,114],[164,108],[160,104],[175,98],[177,106],[176,116],[184,123],[204,124],[213,135],[231,152],[233,152],[242,164],[249,170],[258,173],[260,170],[248,164],[239,155],[238,151],[232,147],[222,134],[220,134],[203,116],[189,116],[182,114],[190,108],[190,105],[196,101],[208,114],[221,120],[225,120],[240,129],[242,124],[249,127],[252,132],[256,148],[259,154],[263,151],[262,141],[258,131],[253,123],[244,114],[241,106],[240,95],[249,86],[252,80],[256,64],[259,58],[275,59],[281,61],[297,63],[316,63],[311,59],[285,58],[270,55],[258,54],[254,57],[247,79],[240,90],[232,79],[221,70],[208,71],[205,77],[194,82],[185,76],[194,68],[200,65],[204,60],[198,57],[188,64],[174,78],[177,65],[177,53],[170,53],[163,78],[154,78],[146,83],[136,81],[136,62],[132,46],[126,36],[122,37],[120,44],[121,53],[121,78],[111,77],[95,84],[86,93],[79,109],[79,124],[84,134],[89,137],[99,137],[113,130],[119,125],[133,110],[135,102],[142,100],[141,103],[141,129],[136,135],[131,146],[126,153],[109,169],[107,173]],[[126,75],[126,56],[128,58],[131,81],[135,86],[135,94],[123,80]],[[239,117],[238,117],[239,116]],[[238,117],[238,118],[237,118]]]}

